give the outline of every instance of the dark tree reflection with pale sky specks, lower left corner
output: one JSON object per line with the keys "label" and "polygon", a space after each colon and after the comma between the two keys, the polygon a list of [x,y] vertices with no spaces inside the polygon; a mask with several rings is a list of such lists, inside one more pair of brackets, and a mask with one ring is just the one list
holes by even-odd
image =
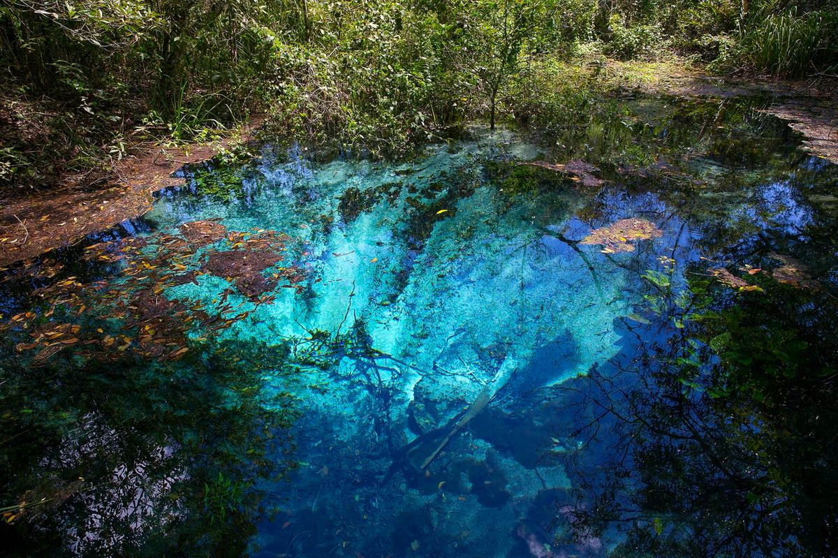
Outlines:
{"label": "dark tree reflection with pale sky specks, lower left corner", "polygon": [[226,341],[168,364],[4,359],[4,555],[244,554],[271,508],[261,483],[294,467],[292,398],[261,380],[286,355]]}

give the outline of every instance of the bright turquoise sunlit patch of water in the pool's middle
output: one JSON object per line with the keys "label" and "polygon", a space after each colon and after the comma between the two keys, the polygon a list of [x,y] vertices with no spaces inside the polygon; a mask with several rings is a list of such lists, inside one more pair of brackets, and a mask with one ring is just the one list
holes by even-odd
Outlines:
{"label": "bright turquoise sunlit patch of water in the pool's middle", "polygon": [[[503,147],[510,153],[498,158],[528,146]],[[303,292],[281,290],[276,303],[235,323],[230,335],[293,338],[364,323],[371,346],[394,357],[383,364],[398,377],[386,381],[404,405],[420,380],[440,382],[428,389],[473,399],[492,375],[478,362],[480,350],[503,345],[504,365],[518,368],[535,347],[569,331],[577,333],[577,347],[543,380],[583,374],[613,356],[611,323],[630,303],[619,299],[625,278],[608,261],[589,271],[556,238],[582,225],[572,219],[580,202],[572,191],[535,188],[513,204],[502,185],[484,176],[486,149],[478,143],[432,147],[427,157],[395,168],[267,159],[252,199],[164,199],[147,221],[167,232],[184,221],[218,219],[228,230],[293,235],[287,261],[303,270]],[[340,199],[351,189],[382,199],[344,217]],[[592,273],[609,281],[597,285]],[[172,296],[209,302],[225,287],[206,277],[173,289]],[[439,377],[434,369],[448,374]]]}

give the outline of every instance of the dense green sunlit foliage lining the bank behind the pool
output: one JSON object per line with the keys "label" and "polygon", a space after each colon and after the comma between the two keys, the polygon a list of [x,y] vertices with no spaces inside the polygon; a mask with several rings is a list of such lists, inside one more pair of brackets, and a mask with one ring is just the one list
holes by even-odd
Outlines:
{"label": "dense green sunlit foliage lining the bank behind the pool", "polygon": [[825,0],[3,0],[0,185],[253,112],[284,135],[397,154],[550,106],[558,60],[835,73],[836,36]]}

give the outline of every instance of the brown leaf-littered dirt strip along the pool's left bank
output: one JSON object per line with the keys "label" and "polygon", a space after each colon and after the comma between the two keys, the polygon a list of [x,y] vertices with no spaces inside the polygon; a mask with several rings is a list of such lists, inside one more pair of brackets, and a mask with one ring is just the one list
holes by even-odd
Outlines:
{"label": "brown leaf-littered dirt strip along the pool's left bank", "polygon": [[5,202],[0,212],[0,271],[145,214],[152,208],[154,192],[184,183],[172,176],[175,171],[249,141],[257,125],[251,123],[220,142],[175,148],[137,145],[134,154],[114,165],[111,186],[105,189],[85,191],[79,184]]}

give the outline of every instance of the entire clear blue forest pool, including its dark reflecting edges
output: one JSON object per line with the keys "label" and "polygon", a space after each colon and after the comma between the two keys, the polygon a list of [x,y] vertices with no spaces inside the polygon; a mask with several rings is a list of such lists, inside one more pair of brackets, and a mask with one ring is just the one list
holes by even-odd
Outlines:
{"label": "entire clear blue forest pool, including its dark reflecting edges", "polygon": [[[789,485],[834,482],[823,449],[834,435],[817,426],[796,437],[804,428],[786,421],[792,401],[834,416],[834,401],[811,393],[831,389],[838,173],[795,152],[778,122],[744,113],[728,137],[664,120],[607,140],[597,127],[599,143],[576,137],[568,152],[479,130],[406,163],[263,147],[251,163],[199,170],[141,221],[85,243],[104,245],[14,270],[0,367],[3,470],[17,473],[3,495],[29,507],[7,512],[13,548],[368,558],[830,548],[835,509]],[[742,130],[760,138],[757,160],[719,147]],[[642,163],[629,151],[639,143],[647,163],[681,158],[614,164]],[[580,154],[603,167],[602,186],[523,164]],[[652,234],[619,232],[616,250],[591,242],[629,219]],[[199,220],[225,235],[189,247],[181,225]],[[282,261],[257,273],[275,285],[247,296],[235,276],[207,271],[214,252],[250,250],[272,231],[287,235],[270,248]],[[771,275],[783,264],[775,252],[817,286]],[[722,267],[759,288],[724,285],[712,271]],[[750,345],[730,335],[747,321],[737,312],[768,332],[753,344],[782,364],[775,376],[794,369],[794,386],[746,374]],[[799,334],[778,325],[789,320]],[[789,335],[827,364],[794,353]],[[65,346],[43,353],[59,346],[50,339]],[[816,364],[826,371],[809,377]],[[747,396],[719,395],[737,385]],[[779,462],[784,436],[812,460]],[[708,440],[726,453],[716,459]],[[732,477],[760,480],[713,493]],[[732,498],[751,530],[726,516]],[[778,517],[812,516],[778,531],[753,519],[769,500]],[[716,520],[728,529],[718,537]]]}

